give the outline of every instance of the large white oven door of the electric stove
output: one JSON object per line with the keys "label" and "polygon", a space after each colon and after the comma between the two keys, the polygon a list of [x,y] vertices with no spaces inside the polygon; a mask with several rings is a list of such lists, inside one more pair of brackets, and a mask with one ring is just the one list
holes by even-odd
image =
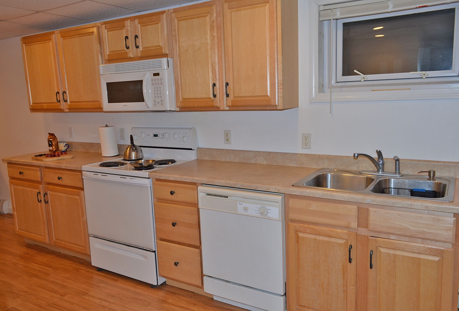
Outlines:
{"label": "large white oven door of the electric stove", "polygon": [[83,172],[90,235],[155,250],[150,178]]}

